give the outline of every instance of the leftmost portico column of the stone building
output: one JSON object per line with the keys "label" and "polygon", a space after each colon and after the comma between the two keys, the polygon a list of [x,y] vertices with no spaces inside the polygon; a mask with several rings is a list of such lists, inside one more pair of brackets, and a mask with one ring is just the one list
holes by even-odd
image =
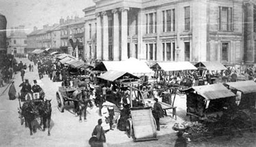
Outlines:
{"label": "leftmost portico column of the stone building", "polygon": [[97,18],[97,48],[96,48],[96,57],[97,59],[102,59],[102,35],[101,35],[101,15],[100,13],[96,14]]}

